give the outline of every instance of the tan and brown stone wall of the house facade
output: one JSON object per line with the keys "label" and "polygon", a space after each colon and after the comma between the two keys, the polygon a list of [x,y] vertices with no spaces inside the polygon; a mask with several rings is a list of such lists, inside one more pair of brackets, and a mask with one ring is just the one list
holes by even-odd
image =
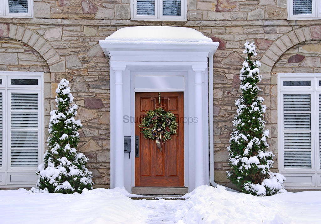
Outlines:
{"label": "tan and brown stone wall of the house facade", "polygon": [[[89,157],[95,187],[110,184],[109,63],[98,41],[126,26],[194,28],[220,46],[213,60],[214,177],[226,179],[234,100],[239,91],[243,44],[254,41],[262,62],[260,94],[267,106],[268,143],[276,155],[278,72],[320,72],[319,20],[287,20],[285,0],[188,0],[187,21],[132,21],[129,0],[37,0],[34,19],[1,18],[0,70],[45,72],[45,128],[61,78],[72,84],[82,120],[78,150]],[[232,186],[233,187],[233,186]]]}

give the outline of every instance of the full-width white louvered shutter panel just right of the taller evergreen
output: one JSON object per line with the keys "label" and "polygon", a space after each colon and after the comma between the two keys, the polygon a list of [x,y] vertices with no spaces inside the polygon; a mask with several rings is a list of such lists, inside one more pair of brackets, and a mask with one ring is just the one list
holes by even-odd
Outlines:
{"label": "full-width white louvered shutter panel just right of the taller evergreen", "polygon": [[311,95],[283,95],[284,168],[311,168]]}

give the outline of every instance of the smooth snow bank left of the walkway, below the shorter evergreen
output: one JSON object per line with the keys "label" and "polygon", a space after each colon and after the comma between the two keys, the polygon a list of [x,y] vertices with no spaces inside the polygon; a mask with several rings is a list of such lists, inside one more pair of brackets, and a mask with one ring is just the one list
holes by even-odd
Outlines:
{"label": "smooth snow bank left of the walkway, below the shorter evergreen", "polygon": [[[35,193],[35,192],[34,192]],[[32,194],[0,190],[0,223],[5,224],[142,224],[146,211],[125,189],[84,189],[82,194]]]}

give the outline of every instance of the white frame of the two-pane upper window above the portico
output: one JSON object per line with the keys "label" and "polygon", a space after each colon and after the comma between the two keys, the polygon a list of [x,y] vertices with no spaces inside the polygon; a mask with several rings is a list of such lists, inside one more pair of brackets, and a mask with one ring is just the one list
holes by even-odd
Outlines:
{"label": "white frame of the two-pane upper window above the portico", "polygon": [[131,20],[152,20],[152,21],[186,21],[187,17],[187,0],[181,1],[181,15],[180,16],[163,16],[163,1],[155,0],[155,14],[154,15],[136,15],[137,1],[131,0],[130,12]]}

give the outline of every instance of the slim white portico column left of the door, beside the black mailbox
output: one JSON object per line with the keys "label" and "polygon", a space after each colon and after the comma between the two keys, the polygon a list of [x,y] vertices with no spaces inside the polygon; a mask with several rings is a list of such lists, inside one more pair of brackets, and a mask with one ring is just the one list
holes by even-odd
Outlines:
{"label": "slim white portico column left of the door, beside the black mailbox", "polygon": [[115,71],[115,187],[124,187],[124,110],[123,110],[123,70],[125,67],[114,67]]}

